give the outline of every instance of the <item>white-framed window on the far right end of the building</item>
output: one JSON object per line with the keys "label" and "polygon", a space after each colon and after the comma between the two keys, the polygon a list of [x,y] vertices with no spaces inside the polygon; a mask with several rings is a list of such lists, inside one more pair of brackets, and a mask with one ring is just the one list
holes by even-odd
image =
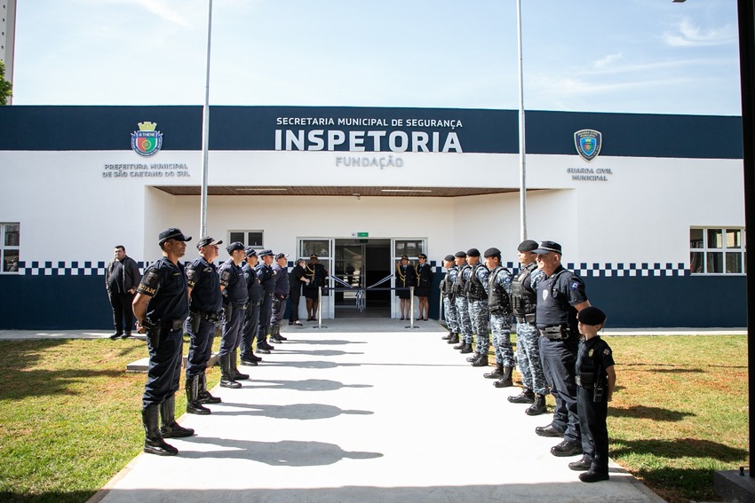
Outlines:
{"label": "white-framed window on the far right end of the building", "polygon": [[743,274],[744,229],[693,227],[689,229],[689,272]]}

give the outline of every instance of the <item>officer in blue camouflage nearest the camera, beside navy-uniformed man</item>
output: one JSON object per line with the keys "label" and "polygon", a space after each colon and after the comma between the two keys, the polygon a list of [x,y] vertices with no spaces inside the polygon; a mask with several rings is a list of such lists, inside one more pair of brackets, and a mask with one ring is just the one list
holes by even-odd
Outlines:
{"label": "officer in blue camouflage nearest the camera, beside navy-uniformed man", "polygon": [[516,355],[523,389],[516,397],[508,397],[513,404],[532,404],[524,412],[530,416],[545,412],[545,376],[540,360],[540,335],[535,325],[537,285],[544,272],[537,269],[537,243],[524,240],[517,248],[519,272],[512,280],[512,309],[516,321]]}

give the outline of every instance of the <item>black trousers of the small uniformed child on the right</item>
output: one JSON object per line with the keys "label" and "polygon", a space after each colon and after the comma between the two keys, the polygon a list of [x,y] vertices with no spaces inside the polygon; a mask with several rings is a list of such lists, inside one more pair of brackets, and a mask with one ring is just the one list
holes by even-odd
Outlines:
{"label": "black trousers of the small uniformed child on the right", "polygon": [[[592,389],[578,386],[576,406],[579,412],[579,425],[582,428],[582,450],[592,458],[593,472],[608,473],[608,402],[592,401]],[[585,442],[585,439],[587,440]],[[585,444],[588,446],[585,449]]]}

